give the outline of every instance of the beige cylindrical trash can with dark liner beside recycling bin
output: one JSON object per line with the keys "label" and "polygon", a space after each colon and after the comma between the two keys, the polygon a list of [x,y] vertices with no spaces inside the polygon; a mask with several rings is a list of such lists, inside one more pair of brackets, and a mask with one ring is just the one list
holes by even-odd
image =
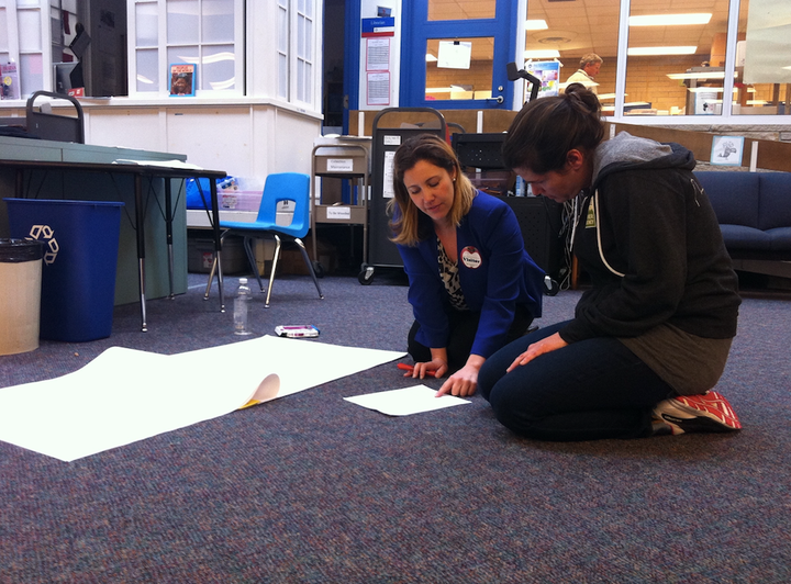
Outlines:
{"label": "beige cylindrical trash can with dark liner beside recycling bin", "polygon": [[0,355],[38,348],[44,244],[0,239]]}

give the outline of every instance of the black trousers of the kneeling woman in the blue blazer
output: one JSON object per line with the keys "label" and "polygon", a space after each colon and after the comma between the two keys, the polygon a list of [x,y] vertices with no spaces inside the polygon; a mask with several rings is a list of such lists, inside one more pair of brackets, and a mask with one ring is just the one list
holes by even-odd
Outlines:
{"label": "black trousers of the kneeling woman in the blue blazer", "polygon": [[[448,368],[450,371],[461,369],[467,362],[467,358],[472,350],[476,333],[478,332],[478,322],[480,321],[480,312],[455,311],[450,310],[448,314],[448,325],[450,327],[450,338],[448,339]],[[514,322],[509,329],[505,342],[511,342],[520,338],[527,332],[533,322],[530,310],[524,304],[516,305]],[[415,321],[409,332],[406,339],[406,350],[416,363],[431,361],[431,349],[415,340],[415,335],[420,330],[420,324]]]}

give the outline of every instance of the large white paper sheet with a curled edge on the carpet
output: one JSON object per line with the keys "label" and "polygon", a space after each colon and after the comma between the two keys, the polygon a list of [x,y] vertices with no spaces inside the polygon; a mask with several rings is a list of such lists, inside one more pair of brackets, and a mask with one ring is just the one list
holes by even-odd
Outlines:
{"label": "large white paper sheet with a curled edge on the carpet", "polygon": [[1,389],[0,440],[68,462],[403,356],[271,336],[170,356],[112,347],[74,373]]}

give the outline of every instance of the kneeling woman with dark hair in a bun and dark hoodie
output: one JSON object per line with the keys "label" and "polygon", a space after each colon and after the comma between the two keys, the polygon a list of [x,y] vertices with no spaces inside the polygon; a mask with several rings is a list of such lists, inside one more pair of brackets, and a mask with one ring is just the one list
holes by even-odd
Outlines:
{"label": "kneeling woman with dark hair in a bun and dark hoodie", "polygon": [[604,141],[597,97],[572,85],[525,105],[503,146],[536,195],[576,200],[590,276],[575,317],[494,353],[479,386],[498,419],[543,440],[740,428],[711,391],[740,299],[714,211],[678,144]]}

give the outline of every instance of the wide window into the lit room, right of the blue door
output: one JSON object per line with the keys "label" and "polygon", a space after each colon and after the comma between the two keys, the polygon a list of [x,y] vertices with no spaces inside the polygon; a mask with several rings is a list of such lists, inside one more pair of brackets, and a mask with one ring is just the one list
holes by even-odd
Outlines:
{"label": "wide window into the lit room, right of the blue door", "polygon": [[562,65],[562,90],[580,57],[598,54],[605,115],[788,115],[787,22],[787,0],[537,0],[527,2],[525,60]]}

